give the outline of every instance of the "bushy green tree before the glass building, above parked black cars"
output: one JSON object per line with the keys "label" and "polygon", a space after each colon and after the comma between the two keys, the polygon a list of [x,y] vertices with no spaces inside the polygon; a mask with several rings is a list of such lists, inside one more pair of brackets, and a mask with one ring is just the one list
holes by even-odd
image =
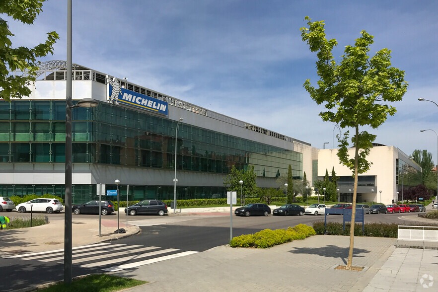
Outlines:
{"label": "bushy green tree before the glass building, above parked black cars", "polygon": [[231,167],[230,173],[223,178],[223,186],[227,191],[236,191],[240,194],[240,180],[242,184],[242,198],[245,201],[246,197],[256,197],[259,194],[259,188],[256,184],[257,175],[254,172],[254,166],[250,165],[248,169],[238,170],[234,165]]}

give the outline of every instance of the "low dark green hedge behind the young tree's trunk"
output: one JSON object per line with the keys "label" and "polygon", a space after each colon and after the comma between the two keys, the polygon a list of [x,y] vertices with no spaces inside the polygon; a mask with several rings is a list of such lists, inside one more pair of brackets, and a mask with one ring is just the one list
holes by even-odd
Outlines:
{"label": "low dark green hedge behind the young tree's trunk", "polygon": [[[362,232],[362,223],[355,223],[355,236],[372,236],[372,237],[391,237],[397,238],[398,232],[397,223],[381,223],[381,222],[370,222],[365,223],[364,231],[365,235]],[[410,225],[410,224],[405,224]],[[424,226],[437,226],[437,224],[424,224]],[[343,230],[343,224],[338,222],[327,222],[327,228],[324,227],[323,221],[313,222],[313,229],[316,234],[325,234],[327,231],[327,235],[350,235],[350,223],[345,223],[345,229]],[[413,225],[415,226],[415,224]]]}

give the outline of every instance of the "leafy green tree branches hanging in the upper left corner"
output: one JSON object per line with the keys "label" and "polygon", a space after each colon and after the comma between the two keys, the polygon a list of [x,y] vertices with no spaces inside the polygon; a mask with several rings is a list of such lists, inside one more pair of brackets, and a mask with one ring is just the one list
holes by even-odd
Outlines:
{"label": "leafy green tree branches hanging in the upper left corner", "polygon": [[[33,24],[36,16],[42,11],[45,0],[1,0],[0,14],[6,14],[24,24]],[[14,34],[9,30],[7,21],[0,18],[0,99],[10,102],[11,98],[22,98],[30,95],[27,87],[35,81],[38,70],[36,59],[48,53],[53,54],[53,45],[59,39],[55,31],[47,33],[47,40],[34,48],[12,48],[9,39]],[[23,75],[11,75],[10,71],[26,72]]]}

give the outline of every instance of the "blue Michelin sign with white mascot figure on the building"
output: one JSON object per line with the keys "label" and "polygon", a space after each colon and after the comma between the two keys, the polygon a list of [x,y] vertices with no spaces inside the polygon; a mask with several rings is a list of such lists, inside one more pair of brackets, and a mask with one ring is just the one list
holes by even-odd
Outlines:
{"label": "blue Michelin sign with white mascot figure on the building", "polygon": [[106,81],[109,103],[115,105],[123,103],[167,116],[167,102],[123,88],[122,82],[116,77],[111,79],[106,75]]}

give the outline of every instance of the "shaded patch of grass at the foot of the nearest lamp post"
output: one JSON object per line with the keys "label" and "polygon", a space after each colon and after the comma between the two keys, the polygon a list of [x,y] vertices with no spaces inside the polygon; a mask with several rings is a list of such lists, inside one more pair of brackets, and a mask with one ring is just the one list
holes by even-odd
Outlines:
{"label": "shaded patch of grass at the foot of the nearest lamp post", "polygon": [[130,287],[146,284],[146,281],[140,281],[130,278],[121,278],[106,274],[88,275],[78,279],[73,279],[70,286],[65,286],[64,282],[57,283],[45,289],[42,292],[110,292],[120,291]]}

